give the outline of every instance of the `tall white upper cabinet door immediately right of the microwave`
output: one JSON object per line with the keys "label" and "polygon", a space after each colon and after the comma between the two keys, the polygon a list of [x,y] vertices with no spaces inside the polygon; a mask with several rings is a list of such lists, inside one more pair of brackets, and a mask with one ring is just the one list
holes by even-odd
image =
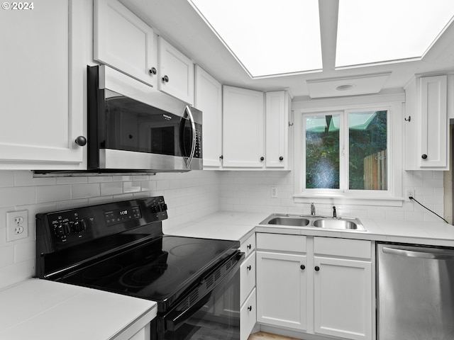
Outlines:
{"label": "tall white upper cabinet door immediately right of the microwave", "polygon": [[202,145],[204,168],[221,167],[222,156],[222,85],[196,65],[194,106],[201,110],[204,126]]}

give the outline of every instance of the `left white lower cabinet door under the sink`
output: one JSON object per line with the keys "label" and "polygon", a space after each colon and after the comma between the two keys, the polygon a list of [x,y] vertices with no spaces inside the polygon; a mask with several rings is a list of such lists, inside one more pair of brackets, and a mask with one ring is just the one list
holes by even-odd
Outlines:
{"label": "left white lower cabinet door under the sink", "polygon": [[[257,321],[306,329],[306,256],[257,251]],[[304,269],[301,269],[304,268]]]}

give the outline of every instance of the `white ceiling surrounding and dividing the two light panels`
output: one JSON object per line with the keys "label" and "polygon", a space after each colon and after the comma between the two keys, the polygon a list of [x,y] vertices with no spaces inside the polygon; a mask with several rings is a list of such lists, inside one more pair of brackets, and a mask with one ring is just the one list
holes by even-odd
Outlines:
{"label": "white ceiling surrounding and dividing the two light panels", "polygon": [[[333,84],[338,86],[341,84],[339,79],[364,81],[369,74],[375,76],[390,72],[382,84],[382,91],[386,92],[402,91],[402,87],[414,74],[454,71],[454,24],[445,30],[422,60],[335,70],[338,1],[319,0],[323,72],[251,79],[187,0],[120,0],[120,2],[226,85],[260,91],[289,89],[292,96],[309,96],[307,80],[312,84],[327,85],[332,80]],[[232,18],[232,24],[234,23],[235,18]],[[353,86],[351,91],[343,92],[345,95],[356,94],[354,89],[358,88],[361,86]],[[327,92],[318,96],[332,94]]]}

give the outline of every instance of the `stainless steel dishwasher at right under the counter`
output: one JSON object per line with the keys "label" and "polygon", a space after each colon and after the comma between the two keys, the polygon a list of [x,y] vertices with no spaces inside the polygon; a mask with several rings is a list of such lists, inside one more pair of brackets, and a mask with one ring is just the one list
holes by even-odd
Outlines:
{"label": "stainless steel dishwasher at right under the counter", "polygon": [[377,339],[454,339],[454,249],[378,244]]}

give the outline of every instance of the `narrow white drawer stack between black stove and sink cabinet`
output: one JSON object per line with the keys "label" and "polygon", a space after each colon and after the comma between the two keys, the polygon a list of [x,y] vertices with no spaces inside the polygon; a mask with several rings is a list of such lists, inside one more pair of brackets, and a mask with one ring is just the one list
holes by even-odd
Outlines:
{"label": "narrow white drawer stack between black stove and sink cabinet", "polygon": [[246,258],[240,266],[240,340],[247,340],[256,322],[255,234],[240,246]]}

